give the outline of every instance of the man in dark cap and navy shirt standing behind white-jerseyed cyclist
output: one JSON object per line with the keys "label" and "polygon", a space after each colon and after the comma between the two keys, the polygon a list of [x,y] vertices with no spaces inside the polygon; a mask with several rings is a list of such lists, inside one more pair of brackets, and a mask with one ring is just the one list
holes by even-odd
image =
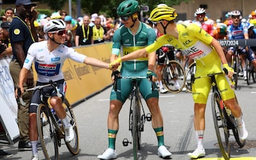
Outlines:
{"label": "man in dark cap and navy shirt standing behind white-jerseyed cyclist", "polygon": [[[16,13],[10,25],[10,42],[13,48],[10,74],[12,75],[15,87],[17,87],[20,69],[25,61],[29,46],[38,39],[37,32],[34,28],[34,20],[37,19],[37,12],[31,9],[36,4],[32,4],[30,0],[17,0],[15,5]],[[30,21],[30,27],[26,24],[25,20]],[[34,77],[33,72],[30,70],[23,87],[26,89],[33,86]],[[20,131],[19,151],[31,150],[31,142],[29,141],[29,103],[31,94],[31,91],[23,94],[23,100],[26,102],[26,105],[19,104],[18,107],[18,127]]]}

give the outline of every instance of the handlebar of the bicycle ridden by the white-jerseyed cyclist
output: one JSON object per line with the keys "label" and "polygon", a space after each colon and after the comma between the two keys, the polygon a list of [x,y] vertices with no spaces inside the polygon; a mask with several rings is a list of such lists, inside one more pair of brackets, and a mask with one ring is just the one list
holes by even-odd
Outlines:
{"label": "handlebar of the bicycle ridden by the white-jerseyed cyclist", "polygon": [[[34,90],[37,90],[37,89],[42,89],[42,88],[45,88],[45,87],[48,87],[48,86],[52,86],[54,88],[54,90],[56,91],[56,94],[58,97],[62,97],[62,94],[59,93],[59,90],[57,88],[57,85],[56,83],[53,83],[53,80],[50,80],[49,81],[49,84],[46,84],[46,85],[37,85],[37,86],[34,86],[33,88],[28,88],[26,89],[25,91],[34,91]],[[22,99],[22,96],[21,96],[21,91],[20,91],[20,87],[17,88],[18,89],[18,97],[19,97],[19,101],[20,101],[20,104],[22,105],[26,105],[26,103],[23,101]]]}

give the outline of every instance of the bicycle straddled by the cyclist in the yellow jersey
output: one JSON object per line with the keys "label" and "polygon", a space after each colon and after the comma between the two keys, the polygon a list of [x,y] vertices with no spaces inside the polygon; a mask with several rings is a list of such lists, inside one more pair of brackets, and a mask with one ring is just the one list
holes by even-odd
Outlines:
{"label": "bicycle straddled by the cyclist in the yellow jersey", "polygon": [[[225,74],[227,70],[224,69]],[[214,118],[214,129],[217,134],[217,140],[219,143],[219,148],[222,156],[225,160],[230,159],[230,129],[233,131],[233,136],[236,139],[239,147],[242,148],[245,145],[245,141],[239,140],[238,136],[238,124],[236,118],[232,115],[231,111],[225,106],[222,97],[220,96],[219,89],[217,88],[217,83],[215,75],[222,75],[224,72],[217,72],[213,74],[203,75],[200,77],[195,77],[196,79],[202,77],[211,78],[212,95],[211,95],[211,109]]]}

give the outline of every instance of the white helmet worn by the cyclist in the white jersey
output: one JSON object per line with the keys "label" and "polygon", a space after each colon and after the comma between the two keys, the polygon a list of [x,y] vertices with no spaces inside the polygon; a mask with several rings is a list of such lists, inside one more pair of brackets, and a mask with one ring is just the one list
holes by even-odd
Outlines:
{"label": "white helmet worn by the cyclist in the white jersey", "polygon": [[49,20],[44,26],[44,32],[48,33],[50,31],[65,29],[66,23],[61,19]]}

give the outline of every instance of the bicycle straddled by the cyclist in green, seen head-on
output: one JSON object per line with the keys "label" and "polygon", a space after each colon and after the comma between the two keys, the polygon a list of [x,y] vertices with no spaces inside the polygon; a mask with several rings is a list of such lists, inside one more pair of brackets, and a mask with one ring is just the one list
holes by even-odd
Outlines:
{"label": "bicycle straddled by the cyclist in green, seen head-on", "polygon": [[[146,115],[143,104],[140,99],[140,91],[138,91],[138,80],[146,79],[146,77],[121,77],[115,75],[114,78],[114,89],[117,91],[117,80],[118,79],[130,79],[132,80],[132,92],[131,100],[129,106],[129,131],[132,133],[130,140],[124,138],[123,145],[128,146],[129,144],[133,145],[133,159],[138,159],[138,150],[140,150],[141,145],[141,132],[144,131],[144,123],[146,121],[151,121],[151,114]],[[150,77],[152,82],[152,77]],[[154,91],[154,83],[152,82],[152,91]]]}

